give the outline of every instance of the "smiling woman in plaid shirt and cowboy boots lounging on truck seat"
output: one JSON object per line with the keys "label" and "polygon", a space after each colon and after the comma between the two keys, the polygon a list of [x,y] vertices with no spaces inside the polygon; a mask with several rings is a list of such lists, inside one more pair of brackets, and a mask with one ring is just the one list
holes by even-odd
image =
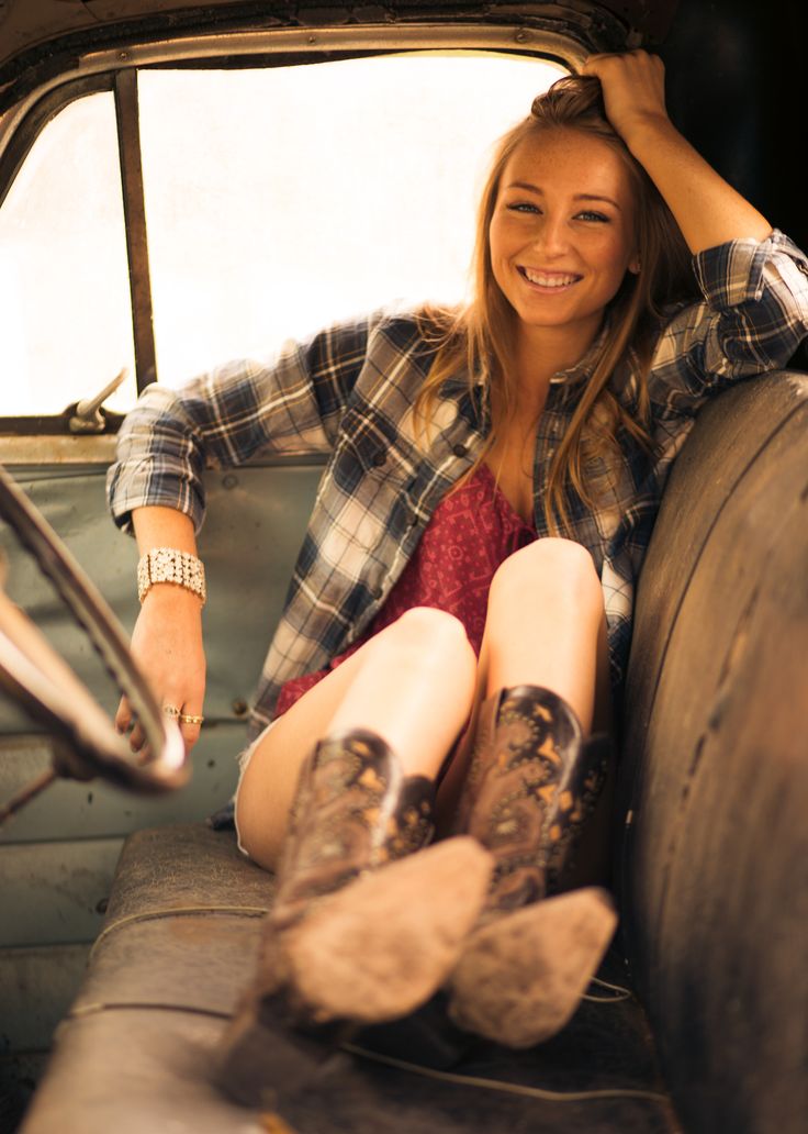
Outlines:
{"label": "smiling woman in plaid shirt and cowboy boots lounging on truck seat", "polygon": [[444,987],[516,1047],[567,1022],[614,926],[570,869],[662,486],[711,392],[788,362],[807,274],[671,125],[660,60],[594,56],[503,139],[467,310],[146,392],[110,494],[144,556],[133,649],[189,746],[203,460],[331,455],[243,762],[240,844],[279,892],[231,1063],[278,993],[372,1023]]}

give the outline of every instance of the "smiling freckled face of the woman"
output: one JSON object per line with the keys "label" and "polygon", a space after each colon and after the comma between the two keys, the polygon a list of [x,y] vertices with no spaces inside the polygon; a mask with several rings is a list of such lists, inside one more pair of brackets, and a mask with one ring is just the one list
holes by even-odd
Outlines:
{"label": "smiling freckled face of the woman", "polygon": [[503,169],[488,240],[521,328],[562,331],[585,348],[626,271],[639,269],[626,166],[579,130],[526,138]]}

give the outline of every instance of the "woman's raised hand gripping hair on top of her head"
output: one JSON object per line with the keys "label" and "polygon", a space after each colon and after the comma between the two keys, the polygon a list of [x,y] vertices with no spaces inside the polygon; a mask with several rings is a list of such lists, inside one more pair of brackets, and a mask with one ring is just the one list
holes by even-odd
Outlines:
{"label": "woman's raised hand gripping hair on top of her head", "polygon": [[629,149],[633,132],[649,125],[670,125],[665,67],[658,56],[647,51],[589,56],[581,70],[599,78],[609,121]]}

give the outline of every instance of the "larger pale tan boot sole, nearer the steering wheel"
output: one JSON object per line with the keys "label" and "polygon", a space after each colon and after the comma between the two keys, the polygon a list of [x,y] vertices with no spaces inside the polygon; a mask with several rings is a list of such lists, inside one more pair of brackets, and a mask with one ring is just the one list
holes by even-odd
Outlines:
{"label": "larger pale tan boot sole, nearer the steering wheel", "polygon": [[493,860],[446,839],[373,871],[283,933],[288,989],[313,1023],[376,1024],[446,980],[485,903]]}

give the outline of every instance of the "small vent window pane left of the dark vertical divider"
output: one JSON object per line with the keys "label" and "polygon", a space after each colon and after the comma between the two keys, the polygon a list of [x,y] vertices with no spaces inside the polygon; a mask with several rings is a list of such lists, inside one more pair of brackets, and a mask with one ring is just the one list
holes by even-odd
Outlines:
{"label": "small vent window pane left of the dark vertical divider", "polygon": [[135,397],[131,314],[111,93],[65,108],[0,209],[0,414],[56,414],[96,393]]}

